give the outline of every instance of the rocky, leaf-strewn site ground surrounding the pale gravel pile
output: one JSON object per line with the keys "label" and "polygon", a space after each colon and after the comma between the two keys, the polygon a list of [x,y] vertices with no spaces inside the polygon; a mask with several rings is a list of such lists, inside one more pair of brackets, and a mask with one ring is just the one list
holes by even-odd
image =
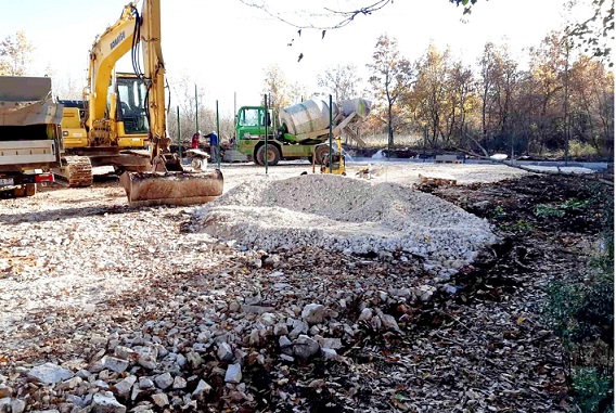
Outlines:
{"label": "rocky, leaf-strewn site ground surrounding the pale gravel pile", "polygon": [[[349,185],[367,167],[499,242],[439,284],[412,255],[221,242],[189,230],[200,206],[130,208],[105,173],[0,199],[0,411],[568,411],[544,287],[589,262],[613,186],[427,163],[347,165]],[[227,193],[312,167],[222,172]],[[583,209],[534,212],[570,199]]]}

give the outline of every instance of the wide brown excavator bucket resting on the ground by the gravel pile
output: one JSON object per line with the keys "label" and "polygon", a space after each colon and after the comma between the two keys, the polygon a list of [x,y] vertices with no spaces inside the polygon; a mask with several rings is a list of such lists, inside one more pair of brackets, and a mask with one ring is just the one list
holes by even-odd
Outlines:
{"label": "wide brown excavator bucket resting on the ground by the gravel pile", "polygon": [[119,181],[130,206],[193,205],[222,194],[222,172],[124,172]]}

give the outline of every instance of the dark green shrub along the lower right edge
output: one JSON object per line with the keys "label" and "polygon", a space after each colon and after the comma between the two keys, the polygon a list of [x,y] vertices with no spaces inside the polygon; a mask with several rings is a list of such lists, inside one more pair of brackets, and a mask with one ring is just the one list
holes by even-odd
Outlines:
{"label": "dark green shrub along the lower right edge", "polygon": [[543,312],[563,340],[566,365],[573,367],[567,371],[572,395],[578,411],[585,413],[614,411],[614,196],[599,186],[592,192],[591,199],[536,208],[538,216],[560,216],[593,203],[603,205],[599,251],[577,280],[555,282],[548,288]]}

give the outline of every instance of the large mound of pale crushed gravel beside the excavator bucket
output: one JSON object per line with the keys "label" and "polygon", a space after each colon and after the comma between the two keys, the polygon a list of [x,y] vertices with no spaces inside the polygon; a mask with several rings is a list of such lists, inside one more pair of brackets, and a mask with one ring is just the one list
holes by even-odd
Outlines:
{"label": "large mound of pale crushed gravel beside the excavator bucket", "polygon": [[497,241],[486,220],[436,196],[328,175],[253,179],[195,214],[196,231],[247,248],[401,250],[448,268],[473,260],[478,249]]}

